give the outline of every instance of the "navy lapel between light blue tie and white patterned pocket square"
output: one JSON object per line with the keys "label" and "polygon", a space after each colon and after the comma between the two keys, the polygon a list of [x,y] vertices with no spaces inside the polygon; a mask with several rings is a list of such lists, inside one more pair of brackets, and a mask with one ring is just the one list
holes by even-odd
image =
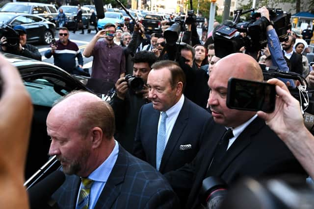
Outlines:
{"label": "navy lapel between light blue tie and white patterned pocket square", "polygon": [[[177,118],[175,125],[173,126],[171,134],[169,136],[167,145],[165,147],[165,150],[163,152],[162,159],[160,162],[160,168],[159,168],[160,172],[162,171],[163,167],[165,166],[165,164],[169,160],[171,153],[173,153],[173,150],[175,149],[176,144],[177,144],[178,140],[180,139],[180,136],[181,136],[181,134],[182,134],[187,122],[188,122],[188,114],[189,114],[190,105],[189,105],[187,100],[188,99],[185,97],[182,109],[178,115],[178,118]],[[177,147],[177,148],[179,149],[179,147]]]}

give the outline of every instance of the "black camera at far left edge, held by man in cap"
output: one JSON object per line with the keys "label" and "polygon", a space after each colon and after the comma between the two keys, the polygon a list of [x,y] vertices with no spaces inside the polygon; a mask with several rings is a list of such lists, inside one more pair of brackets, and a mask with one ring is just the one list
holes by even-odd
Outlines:
{"label": "black camera at far left edge, held by man in cap", "polygon": [[8,46],[10,49],[15,50],[20,45],[20,36],[17,31],[15,31],[12,27],[8,25],[2,25],[0,27],[0,37],[5,37],[7,43],[2,46]]}

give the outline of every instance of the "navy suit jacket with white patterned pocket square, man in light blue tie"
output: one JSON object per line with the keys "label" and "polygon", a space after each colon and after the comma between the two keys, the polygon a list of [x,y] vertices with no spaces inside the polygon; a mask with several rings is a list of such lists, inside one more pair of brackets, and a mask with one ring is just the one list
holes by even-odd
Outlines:
{"label": "navy suit jacket with white patterned pocket square, man in light blue tie", "polygon": [[[157,129],[160,112],[153,104],[143,105],[138,116],[135,134],[134,156],[156,167]],[[209,124],[210,114],[184,98],[183,107],[172,129],[165,147],[159,172],[166,173],[191,162],[200,149],[201,140]],[[190,144],[191,148],[180,150],[180,145]]]}

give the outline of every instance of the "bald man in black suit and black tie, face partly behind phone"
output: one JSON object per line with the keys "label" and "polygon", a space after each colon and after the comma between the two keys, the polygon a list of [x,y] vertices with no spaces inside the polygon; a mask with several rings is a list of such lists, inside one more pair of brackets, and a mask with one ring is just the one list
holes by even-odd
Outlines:
{"label": "bald man in black suit and black tie, face partly behind phone", "polygon": [[202,182],[209,176],[219,177],[230,185],[244,176],[304,174],[288,147],[264,120],[257,117],[256,112],[226,106],[227,85],[231,77],[263,80],[259,64],[247,54],[234,53],[219,60],[208,82],[212,118],[207,139],[193,162],[165,175],[182,200],[186,200],[189,194],[188,209],[200,206]]}

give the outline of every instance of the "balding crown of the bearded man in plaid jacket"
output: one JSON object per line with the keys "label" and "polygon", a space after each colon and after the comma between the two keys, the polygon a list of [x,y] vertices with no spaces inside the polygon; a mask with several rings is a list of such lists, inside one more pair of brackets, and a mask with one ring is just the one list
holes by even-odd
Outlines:
{"label": "balding crown of the bearded man in plaid jacket", "polygon": [[92,127],[100,127],[104,136],[111,139],[115,129],[114,113],[111,106],[95,94],[74,92],[56,103],[47,117],[63,121],[64,126],[85,134]]}

